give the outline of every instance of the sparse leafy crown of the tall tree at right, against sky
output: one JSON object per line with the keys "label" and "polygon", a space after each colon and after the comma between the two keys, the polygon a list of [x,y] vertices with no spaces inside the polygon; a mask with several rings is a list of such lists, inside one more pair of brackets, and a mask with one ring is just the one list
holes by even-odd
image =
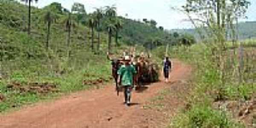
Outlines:
{"label": "sparse leafy crown of the tall tree at right, against sky", "polygon": [[[207,31],[210,31],[216,35],[224,35],[226,23],[233,21],[236,17],[243,17],[248,6],[250,5],[249,0],[186,0],[186,5],[182,6],[184,12],[188,15],[193,13],[197,15],[197,18],[192,18],[189,15],[189,19],[195,25],[195,22],[201,22],[201,25],[207,25]],[[231,6],[231,9],[227,9]],[[228,11],[231,11],[228,12]],[[227,17],[227,13],[229,13]],[[235,18],[230,18],[233,16]],[[217,27],[215,27],[217,26]],[[221,41],[223,42],[223,41]]]}

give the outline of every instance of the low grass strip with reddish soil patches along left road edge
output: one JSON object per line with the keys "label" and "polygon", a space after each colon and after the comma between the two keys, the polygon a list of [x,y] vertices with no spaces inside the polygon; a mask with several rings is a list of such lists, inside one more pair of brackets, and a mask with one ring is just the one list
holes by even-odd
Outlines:
{"label": "low grass strip with reddish soil patches along left road edge", "polygon": [[[29,66],[15,70],[9,79],[2,79],[0,82],[0,93],[3,97],[0,102],[0,112],[33,104],[42,99],[54,99],[63,94],[89,89],[94,84],[110,81],[109,61],[104,60],[103,56],[98,58],[102,61],[88,61],[79,69],[70,67],[68,73],[62,75],[50,74],[51,72],[46,76],[35,75],[37,73],[33,74]],[[46,70],[38,68],[37,72],[44,73]]]}

